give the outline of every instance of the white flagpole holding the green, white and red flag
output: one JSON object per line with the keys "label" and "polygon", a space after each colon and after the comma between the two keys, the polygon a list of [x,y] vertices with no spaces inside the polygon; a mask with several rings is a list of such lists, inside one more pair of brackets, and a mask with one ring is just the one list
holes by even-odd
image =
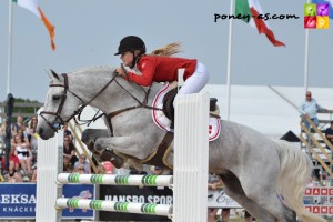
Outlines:
{"label": "white flagpole holding the green, white and red flag", "polygon": [[[233,14],[234,0],[230,1],[230,14]],[[230,94],[231,94],[231,43],[232,43],[232,22],[229,20],[229,39],[228,39],[228,62],[226,62],[226,120],[230,120]]]}

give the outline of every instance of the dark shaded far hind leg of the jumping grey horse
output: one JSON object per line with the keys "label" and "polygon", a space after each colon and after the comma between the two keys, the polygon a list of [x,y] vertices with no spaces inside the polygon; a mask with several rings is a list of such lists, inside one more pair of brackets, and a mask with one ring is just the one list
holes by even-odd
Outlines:
{"label": "dark shaded far hind leg of the jumping grey horse", "polygon": [[276,221],[275,216],[245,195],[239,179],[233,173],[221,174],[220,176],[222,178],[225,193],[244,206],[258,221]]}

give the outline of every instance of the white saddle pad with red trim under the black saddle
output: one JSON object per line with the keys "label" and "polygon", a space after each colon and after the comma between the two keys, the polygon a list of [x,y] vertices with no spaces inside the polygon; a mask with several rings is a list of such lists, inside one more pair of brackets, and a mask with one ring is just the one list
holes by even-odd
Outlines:
{"label": "white saddle pad with red trim under the black saddle", "polygon": [[[155,95],[152,107],[163,109],[164,95],[174,88],[174,84],[167,83],[165,87]],[[171,131],[171,120],[160,110],[152,110],[152,119],[154,123],[163,131]],[[221,120],[219,118],[210,117],[209,120],[209,141],[214,141],[220,135]]]}

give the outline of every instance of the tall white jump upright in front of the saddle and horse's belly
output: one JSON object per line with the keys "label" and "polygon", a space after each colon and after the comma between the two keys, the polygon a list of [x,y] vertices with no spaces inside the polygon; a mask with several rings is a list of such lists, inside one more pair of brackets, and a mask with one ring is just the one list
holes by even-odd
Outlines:
{"label": "tall white jump upright in front of the saddle and horse's belly", "polygon": [[206,221],[209,94],[175,98],[173,221]]}

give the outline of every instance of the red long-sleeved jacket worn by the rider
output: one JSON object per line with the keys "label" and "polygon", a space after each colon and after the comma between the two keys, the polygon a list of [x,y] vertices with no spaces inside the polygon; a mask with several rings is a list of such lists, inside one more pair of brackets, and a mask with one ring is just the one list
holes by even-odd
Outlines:
{"label": "red long-sleeved jacket worn by the rider", "polygon": [[195,59],[183,59],[161,56],[142,56],[137,62],[138,75],[128,72],[128,78],[140,85],[151,85],[155,82],[172,82],[178,80],[178,69],[185,68],[184,80],[193,74],[196,67]]}

